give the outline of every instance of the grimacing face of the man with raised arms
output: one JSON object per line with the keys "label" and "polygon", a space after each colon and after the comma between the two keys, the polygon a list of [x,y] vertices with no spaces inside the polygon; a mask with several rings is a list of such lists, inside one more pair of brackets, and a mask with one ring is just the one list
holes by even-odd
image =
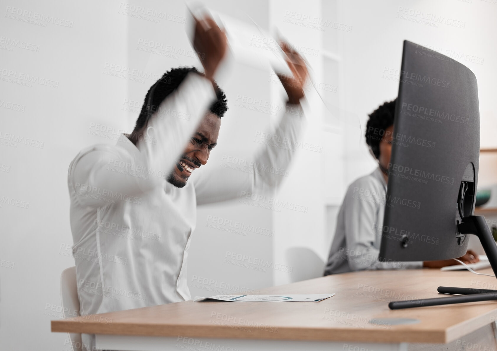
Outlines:
{"label": "grimacing face of the man with raised arms", "polygon": [[207,163],[211,150],[217,144],[220,127],[221,118],[212,112],[207,112],[198,129],[188,141],[181,158],[167,176],[169,183],[182,188],[195,169]]}

